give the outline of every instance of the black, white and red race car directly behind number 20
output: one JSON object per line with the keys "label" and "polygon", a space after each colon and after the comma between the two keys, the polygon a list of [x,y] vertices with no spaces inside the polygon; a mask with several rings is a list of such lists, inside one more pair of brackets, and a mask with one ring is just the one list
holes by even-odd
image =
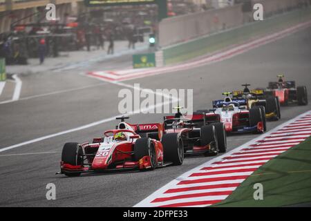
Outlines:
{"label": "black, white and red race car directly behind number 20", "polygon": [[[185,155],[216,155],[225,153],[227,149],[227,136],[223,123],[211,125],[196,124],[203,122],[205,115],[182,115],[180,107],[178,113],[164,117],[162,124],[146,124],[140,126],[138,133],[145,137],[161,140],[158,126],[162,127],[162,144],[170,146],[169,137],[178,137],[180,145],[184,148]],[[152,126],[151,126],[152,125]],[[164,138],[166,138],[164,140]],[[164,153],[165,159],[165,153]]]}

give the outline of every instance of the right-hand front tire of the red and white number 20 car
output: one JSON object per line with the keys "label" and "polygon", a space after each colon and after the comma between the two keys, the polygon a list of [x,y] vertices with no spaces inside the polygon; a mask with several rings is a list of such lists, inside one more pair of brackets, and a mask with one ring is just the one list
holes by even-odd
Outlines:
{"label": "right-hand front tire of the red and white number 20 car", "polygon": [[149,137],[139,138],[134,144],[135,162],[138,162],[144,156],[150,157],[150,170],[155,169],[157,164],[156,148]]}

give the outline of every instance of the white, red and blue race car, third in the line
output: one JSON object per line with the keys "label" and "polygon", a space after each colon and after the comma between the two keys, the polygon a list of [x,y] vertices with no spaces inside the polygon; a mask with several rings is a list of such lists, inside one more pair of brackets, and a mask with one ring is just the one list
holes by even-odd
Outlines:
{"label": "white, red and blue race car, third in the line", "polygon": [[205,114],[205,125],[222,122],[227,133],[263,133],[266,131],[265,107],[245,108],[246,99],[232,99],[231,92],[223,93],[225,99],[213,101],[211,110],[199,110]]}

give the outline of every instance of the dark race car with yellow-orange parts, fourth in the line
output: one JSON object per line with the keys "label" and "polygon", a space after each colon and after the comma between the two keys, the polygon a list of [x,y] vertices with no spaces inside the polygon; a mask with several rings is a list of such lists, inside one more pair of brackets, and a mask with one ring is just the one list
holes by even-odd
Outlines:
{"label": "dark race car with yellow-orange parts, fourth in the line", "polygon": [[234,99],[245,99],[245,108],[247,110],[254,106],[264,106],[265,117],[267,119],[281,119],[279,97],[273,95],[265,96],[264,90],[262,89],[249,90],[248,86],[250,86],[250,84],[243,84],[242,86],[245,87],[243,90],[234,90],[232,92],[232,97]]}

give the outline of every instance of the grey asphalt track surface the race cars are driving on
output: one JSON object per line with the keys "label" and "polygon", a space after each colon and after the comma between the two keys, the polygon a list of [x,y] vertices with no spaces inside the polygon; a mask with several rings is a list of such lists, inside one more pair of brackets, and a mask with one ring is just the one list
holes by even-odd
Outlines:
{"label": "grey asphalt track surface the race cars are driving on", "polygon": [[[88,70],[101,69],[105,69],[105,64],[88,67]],[[22,75],[21,100],[0,104],[0,148],[119,115],[117,94],[122,86],[79,74],[84,71]],[[124,83],[140,83],[141,87],[151,89],[193,88],[196,110],[210,108],[212,99],[221,98],[224,90],[241,88],[241,84],[265,87],[268,81],[276,80],[279,73],[296,80],[296,85],[307,86],[311,95],[311,28],[216,64]],[[310,106],[311,103],[282,107],[282,119],[269,122],[267,128],[309,111]],[[161,120],[162,115],[138,114],[131,116],[129,122]],[[133,206],[173,178],[211,159],[190,157],[182,166],[147,172],[71,178],[55,175],[65,142],[90,141],[115,124],[117,121],[106,122],[0,152],[0,206]],[[256,135],[228,137],[228,149],[254,137]],[[56,185],[57,200],[46,200],[48,183]]]}

